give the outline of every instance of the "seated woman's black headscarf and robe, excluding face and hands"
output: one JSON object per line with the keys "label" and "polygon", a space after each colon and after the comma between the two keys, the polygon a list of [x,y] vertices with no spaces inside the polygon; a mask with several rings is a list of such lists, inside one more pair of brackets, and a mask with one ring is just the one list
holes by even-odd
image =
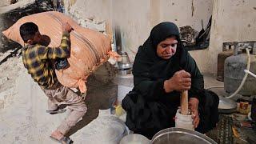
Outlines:
{"label": "seated woman's black headscarf and robe, excluding face and hands", "polygon": [[[176,53],[167,60],[158,57],[156,52],[158,43],[173,36],[178,41]],[[202,93],[204,85],[202,74],[194,59],[182,46],[178,27],[172,22],[162,22],[154,26],[150,37],[147,38],[143,46],[139,46],[133,66],[134,89],[122,100],[122,107],[127,112],[126,126],[135,134],[152,138],[159,130],[174,126],[173,118],[180,104],[180,92],[166,93],[163,84],[178,70],[186,70],[191,74],[189,97],[198,98],[199,104],[207,103],[202,100],[203,95],[206,95]],[[215,103],[218,103],[217,101]],[[200,105],[199,110],[206,109],[201,108]],[[214,107],[215,113],[209,113],[209,111],[208,116],[213,117],[206,118],[205,113],[200,115],[200,123],[205,123],[208,126],[210,121],[205,119],[216,117],[218,105]],[[201,125],[198,127],[202,127]],[[204,130],[208,130],[208,128],[204,128]]]}

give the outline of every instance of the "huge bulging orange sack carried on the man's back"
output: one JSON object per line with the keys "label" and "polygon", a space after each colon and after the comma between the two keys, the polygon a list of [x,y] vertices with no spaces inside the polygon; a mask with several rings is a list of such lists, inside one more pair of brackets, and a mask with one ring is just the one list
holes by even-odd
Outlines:
{"label": "huge bulging orange sack carried on the man's back", "polygon": [[41,34],[50,37],[51,47],[60,45],[62,38],[62,24],[69,22],[74,28],[70,33],[71,53],[66,70],[56,70],[58,81],[63,86],[74,87],[86,92],[86,78],[103,62],[106,62],[111,52],[110,38],[94,30],[83,28],[68,16],[56,12],[44,12],[23,17],[14,23],[8,30],[2,32],[7,38],[24,46],[19,34],[19,27],[25,22],[34,22],[38,25]]}

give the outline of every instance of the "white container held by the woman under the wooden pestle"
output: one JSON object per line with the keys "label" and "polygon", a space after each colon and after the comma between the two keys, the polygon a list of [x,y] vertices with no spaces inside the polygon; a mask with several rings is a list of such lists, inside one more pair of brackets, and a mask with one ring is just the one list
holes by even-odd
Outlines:
{"label": "white container held by the woman under the wooden pestle", "polygon": [[194,130],[193,119],[191,115],[183,115],[180,109],[177,110],[175,116],[175,127],[187,130]]}

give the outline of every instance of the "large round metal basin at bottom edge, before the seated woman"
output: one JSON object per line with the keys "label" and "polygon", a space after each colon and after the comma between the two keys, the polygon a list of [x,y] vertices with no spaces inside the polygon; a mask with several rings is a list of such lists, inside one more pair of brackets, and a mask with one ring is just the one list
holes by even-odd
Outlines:
{"label": "large round metal basin at bottom edge, before the seated woman", "polygon": [[159,131],[152,138],[152,144],[217,144],[204,134],[193,130],[186,130],[181,128],[168,128]]}

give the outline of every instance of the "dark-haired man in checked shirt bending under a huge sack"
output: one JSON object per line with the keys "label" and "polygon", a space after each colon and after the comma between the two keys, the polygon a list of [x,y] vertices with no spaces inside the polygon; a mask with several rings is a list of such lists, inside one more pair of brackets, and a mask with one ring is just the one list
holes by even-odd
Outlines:
{"label": "dark-haired man in checked shirt bending under a huge sack", "polygon": [[38,31],[38,26],[33,22],[22,24],[19,30],[25,43],[22,50],[23,64],[49,98],[49,110],[47,111],[50,114],[62,113],[63,110],[58,107],[62,104],[67,105],[70,110],[70,114],[58,126],[57,130],[54,130],[50,138],[61,143],[72,143],[73,141],[65,134],[86,114],[87,107],[78,94],[58,82],[52,62],[60,58],[70,57],[70,32],[73,28],[69,23],[62,26],[61,45],[54,48],[42,44],[45,43],[45,40]]}

